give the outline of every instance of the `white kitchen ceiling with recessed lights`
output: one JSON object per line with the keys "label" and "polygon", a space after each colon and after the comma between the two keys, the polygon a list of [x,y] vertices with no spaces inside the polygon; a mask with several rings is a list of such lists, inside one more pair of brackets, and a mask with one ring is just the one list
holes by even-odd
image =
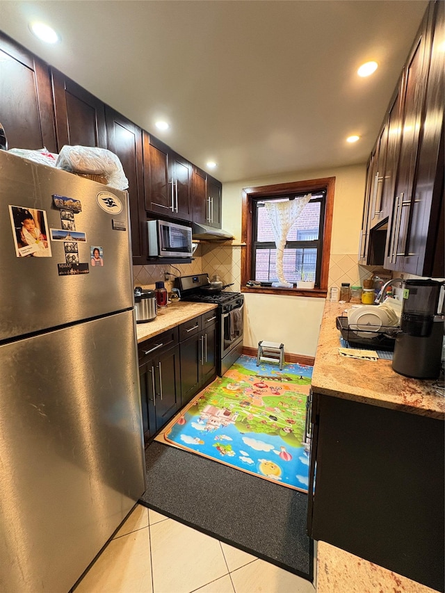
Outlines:
{"label": "white kitchen ceiling with recessed lights", "polygon": [[[366,162],[427,0],[0,0],[1,29],[221,181]],[[39,19],[61,42],[29,32]],[[380,67],[357,76],[368,60]],[[162,117],[167,132],[155,129]],[[1,117],[0,117],[1,121]],[[358,134],[355,145],[346,136]]]}

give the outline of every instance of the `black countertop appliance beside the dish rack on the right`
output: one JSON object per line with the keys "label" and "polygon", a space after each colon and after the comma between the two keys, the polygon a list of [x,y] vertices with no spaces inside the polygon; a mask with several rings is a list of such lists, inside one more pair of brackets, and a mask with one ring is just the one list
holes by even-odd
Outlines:
{"label": "black countertop appliance beside the dish rack on the right", "polygon": [[392,368],[414,379],[437,379],[441,370],[444,319],[437,315],[443,282],[405,280],[401,333],[396,336]]}

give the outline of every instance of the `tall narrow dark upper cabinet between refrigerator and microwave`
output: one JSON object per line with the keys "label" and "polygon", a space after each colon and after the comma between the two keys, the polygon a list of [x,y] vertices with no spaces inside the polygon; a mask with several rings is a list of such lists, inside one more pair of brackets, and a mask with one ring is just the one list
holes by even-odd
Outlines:
{"label": "tall narrow dark upper cabinet between refrigerator and microwave", "polygon": [[147,263],[147,216],[144,207],[142,130],[108,105],[105,121],[107,148],[118,155],[129,181],[133,264],[143,266]]}

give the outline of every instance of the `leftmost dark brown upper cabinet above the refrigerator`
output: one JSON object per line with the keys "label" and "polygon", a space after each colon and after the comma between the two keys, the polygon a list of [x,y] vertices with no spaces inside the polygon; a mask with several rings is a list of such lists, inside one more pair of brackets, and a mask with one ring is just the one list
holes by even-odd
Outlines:
{"label": "leftmost dark brown upper cabinet above the refrigerator", "polygon": [[49,68],[0,32],[0,122],[8,148],[56,152]]}

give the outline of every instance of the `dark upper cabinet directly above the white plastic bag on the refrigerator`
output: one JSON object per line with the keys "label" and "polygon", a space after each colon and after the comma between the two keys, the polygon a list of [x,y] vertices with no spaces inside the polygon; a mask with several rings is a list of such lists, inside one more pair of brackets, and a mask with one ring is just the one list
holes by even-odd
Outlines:
{"label": "dark upper cabinet directly above the white plastic bag on the refrigerator", "polygon": [[64,145],[106,148],[105,105],[51,68],[58,150]]}

